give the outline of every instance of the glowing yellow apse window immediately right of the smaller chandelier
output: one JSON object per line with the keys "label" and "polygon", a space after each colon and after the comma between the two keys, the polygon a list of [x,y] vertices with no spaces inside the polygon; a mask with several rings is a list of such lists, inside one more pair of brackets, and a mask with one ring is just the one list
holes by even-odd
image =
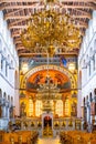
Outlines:
{"label": "glowing yellow apse window immediately right of the smaller chandelier", "polygon": [[63,116],[63,101],[62,100],[58,100],[56,102],[56,114],[58,116]]}

